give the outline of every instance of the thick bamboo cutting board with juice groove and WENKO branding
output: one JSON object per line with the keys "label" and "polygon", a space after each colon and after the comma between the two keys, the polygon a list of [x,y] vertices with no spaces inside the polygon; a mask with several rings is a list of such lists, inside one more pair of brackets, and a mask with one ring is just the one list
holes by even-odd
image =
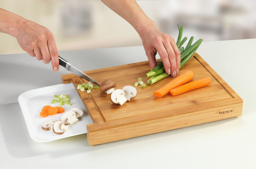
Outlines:
{"label": "thick bamboo cutting board with juice groove and WENKO branding", "polygon": [[[160,61],[160,60],[158,60]],[[179,74],[192,70],[197,80],[210,77],[210,85],[171,96],[156,98],[153,92],[173,79],[169,76],[146,88],[136,87],[137,96],[122,106],[112,104],[110,94],[93,89],[91,94],[77,90],[93,120],[87,125],[89,145],[108,143],[141,135],[158,133],[191,125],[236,117],[242,114],[243,100],[197,53],[184,65]],[[149,78],[148,61],[86,71],[98,83],[112,79],[115,89],[133,86],[137,78],[144,83]],[[87,81],[75,74],[61,76],[62,83],[78,84]]]}

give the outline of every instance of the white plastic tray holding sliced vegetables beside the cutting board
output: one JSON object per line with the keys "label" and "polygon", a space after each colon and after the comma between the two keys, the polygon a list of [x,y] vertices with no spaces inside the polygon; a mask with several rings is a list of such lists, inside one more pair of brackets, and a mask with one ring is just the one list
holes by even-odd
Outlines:
{"label": "white plastic tray holding sliced vegetables beside the cutting board", "polygon": [[[69,124],[67,132],[62,135],[57,135],[53,133],[52,130],[45,131],[42,129],[41,125],[44,121],[49,119],[60,120],[61,114],[63,113],[49,115],[47,117],[40,117],[39,115],[45,105],[53,107],[59,106],[58,103],[51,104],[53,96],[59,94],[68,94],[71,99],[70,103],[74,103],[72,106],[63,105],[62,107],[65,109],[65,112],[72,107],[77,107],[84,112],[83,116],[79,118],[79,121],[74,125]],[[18,101],[29,135],[37,142],[48,142],[87,133],[86,125],[93,123],[72,83],[58,84],[26,91],[19,96]]]}

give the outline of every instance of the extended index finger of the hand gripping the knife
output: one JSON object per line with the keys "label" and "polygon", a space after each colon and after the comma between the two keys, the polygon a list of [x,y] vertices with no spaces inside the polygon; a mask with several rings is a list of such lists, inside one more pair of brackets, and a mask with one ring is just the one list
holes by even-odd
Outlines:
{"label": "extended index finger of the hand gripping the knife", "polygon": [[59,70],[59,56],[54,37],[48,39],[48,48],[51,56],[51,65],[54,72]]}

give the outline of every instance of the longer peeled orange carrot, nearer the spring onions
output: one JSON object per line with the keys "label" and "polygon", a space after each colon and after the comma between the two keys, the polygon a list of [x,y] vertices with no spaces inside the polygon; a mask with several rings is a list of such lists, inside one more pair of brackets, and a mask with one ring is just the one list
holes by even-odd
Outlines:
{"label": "longer peeled orange carrot, nearer the spring onions", "polygon": [[184,72],[178,77],[174,78],[169,83],[165,84],[165,86],[159,88],[157,91],[154,91],[153,94],[155,97],[162,97],[165,94],[168,94],[171,89],[189,82],[192,78],[194,78],[194,72],[188,70],[187,72]]}

